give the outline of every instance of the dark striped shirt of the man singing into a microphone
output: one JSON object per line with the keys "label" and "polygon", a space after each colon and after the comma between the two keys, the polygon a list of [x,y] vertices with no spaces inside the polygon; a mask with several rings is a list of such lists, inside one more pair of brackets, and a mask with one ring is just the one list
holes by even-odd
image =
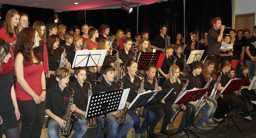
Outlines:
{"label": "dark striped shirt of the man singing into a microphone", "polygon": [[208,41],[208,49],[207,56],[209,57],[211,54],[216,54],[220,56],[220,42],[217,42],[218,36],[220,32],[214,28],[209,29],[207,34]]}

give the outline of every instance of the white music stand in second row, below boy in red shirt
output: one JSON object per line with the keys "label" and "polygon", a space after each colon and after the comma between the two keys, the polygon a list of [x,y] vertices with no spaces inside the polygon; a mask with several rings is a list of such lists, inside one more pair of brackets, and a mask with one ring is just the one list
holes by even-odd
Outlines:
{"label": "white music stand in second row, below boy in red shirt", "polygon": [[107,50],[80,50],[76,51],[72,68],[83,66],[102,66]]}

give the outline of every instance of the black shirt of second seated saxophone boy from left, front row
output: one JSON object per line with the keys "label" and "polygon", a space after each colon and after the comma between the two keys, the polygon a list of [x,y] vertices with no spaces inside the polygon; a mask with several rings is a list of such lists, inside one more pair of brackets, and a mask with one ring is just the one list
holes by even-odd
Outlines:
{"label": "black shirt of second seated saxophone boy from left, front row", "polygon": [[88,103],[88,90],[89,86],[84,83],[83,87],[79,84],[79,82],[76,80],[73,84],[71,84],[71,87],[75,91],[75,101],[76,107],[78,107],[82,111],[86,111],[87,103]]}

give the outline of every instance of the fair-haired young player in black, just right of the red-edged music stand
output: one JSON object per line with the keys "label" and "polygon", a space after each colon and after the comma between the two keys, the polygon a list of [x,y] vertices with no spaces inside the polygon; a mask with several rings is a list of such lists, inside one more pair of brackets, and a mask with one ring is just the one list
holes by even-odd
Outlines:
{"label": "fair-haired young player in black, just right of the red-edged music stand", "polygon": [[175,57],[172,56],[173,52],[172,47],[166,47],[165,53],[166,56],[164,57],[164,62],[162,64],[161,68],[157,68],[158,72],[162,74],[165,78],[168,78],[168,72],[170,69],[170,66],[174,63]]}

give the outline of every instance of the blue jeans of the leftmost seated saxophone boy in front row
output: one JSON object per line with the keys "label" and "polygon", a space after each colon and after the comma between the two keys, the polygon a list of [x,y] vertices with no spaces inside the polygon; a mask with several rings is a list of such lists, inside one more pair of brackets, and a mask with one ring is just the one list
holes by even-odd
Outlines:
{"label": "blue jeans of the leftmost seated saxophone boy in front row", "polygon": [[[48,137],[49,138],[60,138],[60,124],[54,119],[48,121]],[[82,138],[87,130],[87,122],[78,119],[78,122],[74,123],[72,131],[75,131],[71,138]]]}

